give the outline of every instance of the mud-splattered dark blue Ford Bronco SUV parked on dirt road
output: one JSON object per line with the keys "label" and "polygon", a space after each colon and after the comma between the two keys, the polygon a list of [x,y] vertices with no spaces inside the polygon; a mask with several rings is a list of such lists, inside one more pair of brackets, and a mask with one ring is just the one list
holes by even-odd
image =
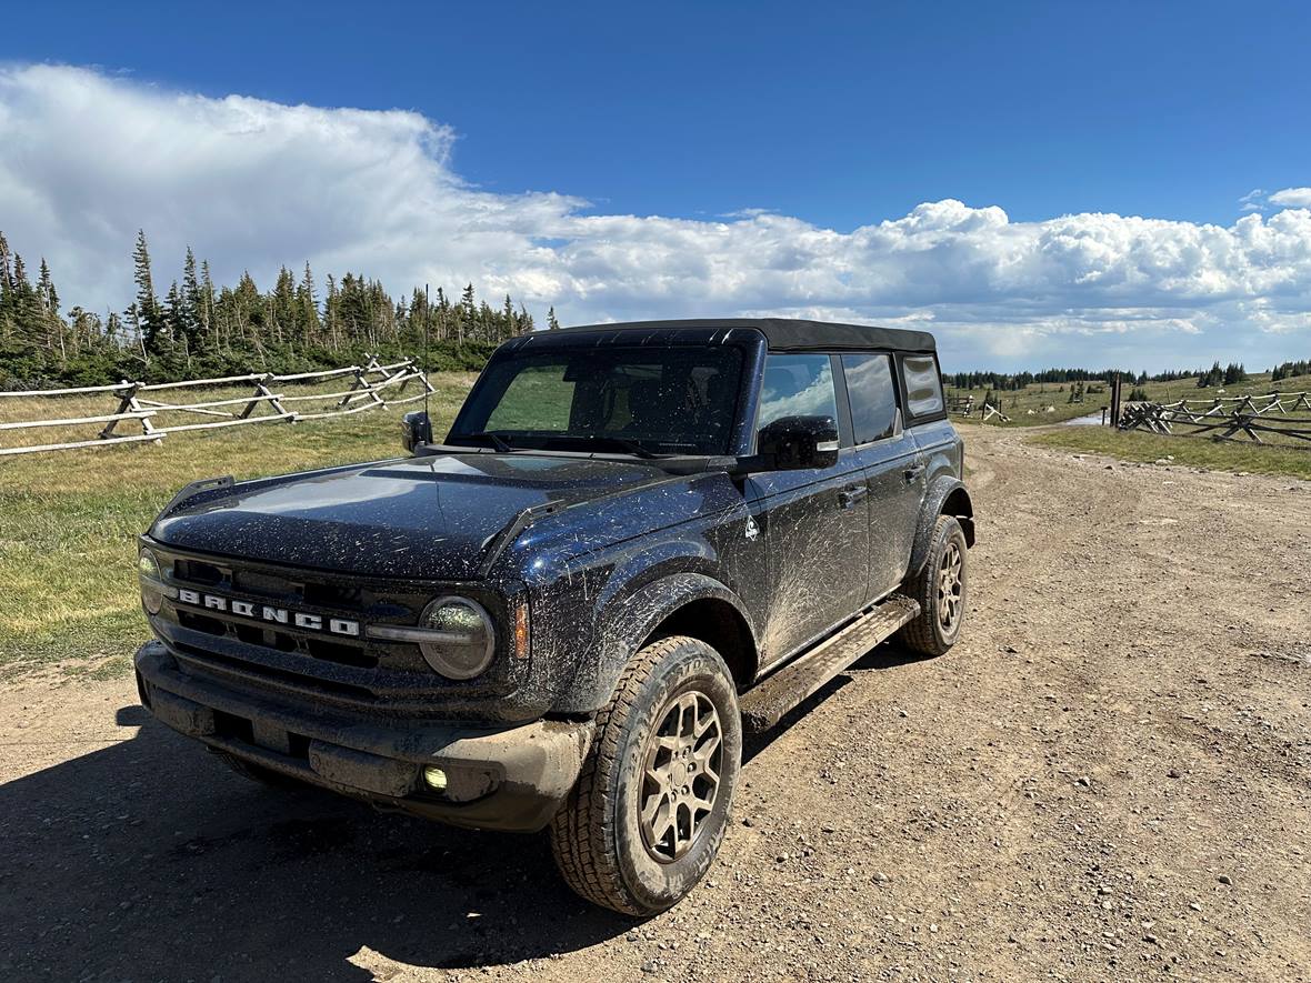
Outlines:
{"label": "mud-splattered dark blue Ford Bronco SUV parked on dirt road", "polygon": [[961,630],[973,506],[933,338],[538,332],[410,456],[184,489],[140,543],[142,703],[237,771],[551,830],[585,898],[704,876],[743,731]]}

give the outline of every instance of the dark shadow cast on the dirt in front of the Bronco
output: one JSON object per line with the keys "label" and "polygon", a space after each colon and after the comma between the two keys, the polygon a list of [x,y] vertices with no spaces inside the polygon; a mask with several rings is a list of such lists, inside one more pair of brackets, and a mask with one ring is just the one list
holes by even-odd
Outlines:
{"label": "dark shadow cast on the dirt in front of the Bronco", "polygon": [[543,836],[265,789],[139,706],[118,721],[132,739],[0,786],[3,979],[367,980],[372,953],[482,967],[633,925]]}

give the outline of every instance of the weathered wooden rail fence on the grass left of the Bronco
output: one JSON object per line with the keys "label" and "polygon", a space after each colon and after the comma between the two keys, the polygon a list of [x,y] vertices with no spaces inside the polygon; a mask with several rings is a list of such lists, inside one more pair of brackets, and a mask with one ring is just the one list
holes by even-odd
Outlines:
{"label": "weathered wooden rail fence on the grass left of the Bronco", "polygon": [[[303,388],[336,380],[341,380],[340,385],[346,385],[349,380],[349,388],[336,392],[294,392],[298,387]],[[416,383],[421,392],[400,396],[410,383]],[[241,385],[253,387],[254,392],[249,396],[199,400],[195,402],[180,402],[177,397],[172,401],[159,398],[165,393],[178,389],[203,389],[206,387],[235,388]],[[222,379],[187,379],[180,383],[134,383],[125,379],[117,385],[0,392],[0,398],[105,395],[118,400],[118,409],[113,413],[56,419],[0,422],[0,434],[4,431],[22,431],[39,427],[104,425],[100,434],[89,440],[0,447],[0,456],[161,440],[168,434],[190,430],[216,430],[219,427],[244,426],[248,423],[295,423],[303,419],[345,417],[363,410],[416,402],[430,392],[434,392],[433,385],[429,383],[427,375],[414,363],[414,359],[408,358],[384,366],[379,364],[378,359],[372,357],[364,366],[346,366],[345,368],[329,368],[321,372],[296,372],[294,375],[250,372],[248,375],[233,375]],[[308,412],[287,409],[288,404],[305,405]],[[260,409],[269,409],[270,412],[257,413]],[[157,419],[159,417],[182,413],[215,417],[216,419],[206,419],[197,423],[169,423],[166,426],[160,425],[161,421]],[[139,426],[142,433],[118,433],[121,423]]]}

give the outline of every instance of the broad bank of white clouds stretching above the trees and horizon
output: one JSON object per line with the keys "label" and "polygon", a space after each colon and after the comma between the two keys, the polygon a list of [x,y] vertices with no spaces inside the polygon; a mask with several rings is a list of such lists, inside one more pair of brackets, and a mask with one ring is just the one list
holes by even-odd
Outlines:
{"label": "broad bank of white clouds stretching above the trees and horizon", "polygon": [[[68,303],[121,308],[144,228],[166,282],[194,246],[220,280],[309,261],[401,294],[511,292],[566,322],[792,315],[914,324],[949,367],[1164,367],[1311,351],[1311,189],[1231,225],[1113,214],[1012,222],[947,199],[853,229],[751,208],[597,214],[493,194],[450,128],[402,110],[210,98],[62,66],[0,68],[0,229]],[[476,177],[476,176],[471,176]],[[872,178],[873,180],[873,178]],[[1256,193],[1242,202],[1256,201]]]}

